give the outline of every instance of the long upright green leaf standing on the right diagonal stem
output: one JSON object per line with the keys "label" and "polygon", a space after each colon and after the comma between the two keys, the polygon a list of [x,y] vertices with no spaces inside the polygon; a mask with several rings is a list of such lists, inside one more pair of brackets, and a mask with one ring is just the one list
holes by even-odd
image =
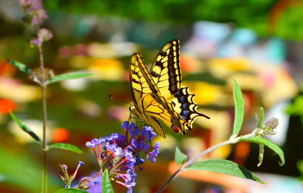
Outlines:
{"label": "long upright green leaf standing on the right diagonal stem", "polygon": [[233,122],[233,131],[231,138],[235,138],[238,136],[244,117],[244,100],[242,98],[241,89],[236,80],[233,80],[233,99],[234,99],[234,107],[235,107],[235,115],[234,115],[234,122]]}

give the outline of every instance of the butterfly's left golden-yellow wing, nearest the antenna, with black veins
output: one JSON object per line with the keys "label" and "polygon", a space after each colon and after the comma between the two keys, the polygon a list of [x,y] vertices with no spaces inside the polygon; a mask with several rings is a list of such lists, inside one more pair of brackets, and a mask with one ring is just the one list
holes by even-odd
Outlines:
{"label": "butterfly's left golden-yellow wing, nearest the antenna, with black veins", "polygon": [[153,96],[159,95],[159,89],[146,69],[142,56],[135,53],[130,62],[130,83],[134,107],[131,111],[143,121],[150,124],[156,132],[165,138],[162,124],[152,115],[161,113],[164,109]]}

